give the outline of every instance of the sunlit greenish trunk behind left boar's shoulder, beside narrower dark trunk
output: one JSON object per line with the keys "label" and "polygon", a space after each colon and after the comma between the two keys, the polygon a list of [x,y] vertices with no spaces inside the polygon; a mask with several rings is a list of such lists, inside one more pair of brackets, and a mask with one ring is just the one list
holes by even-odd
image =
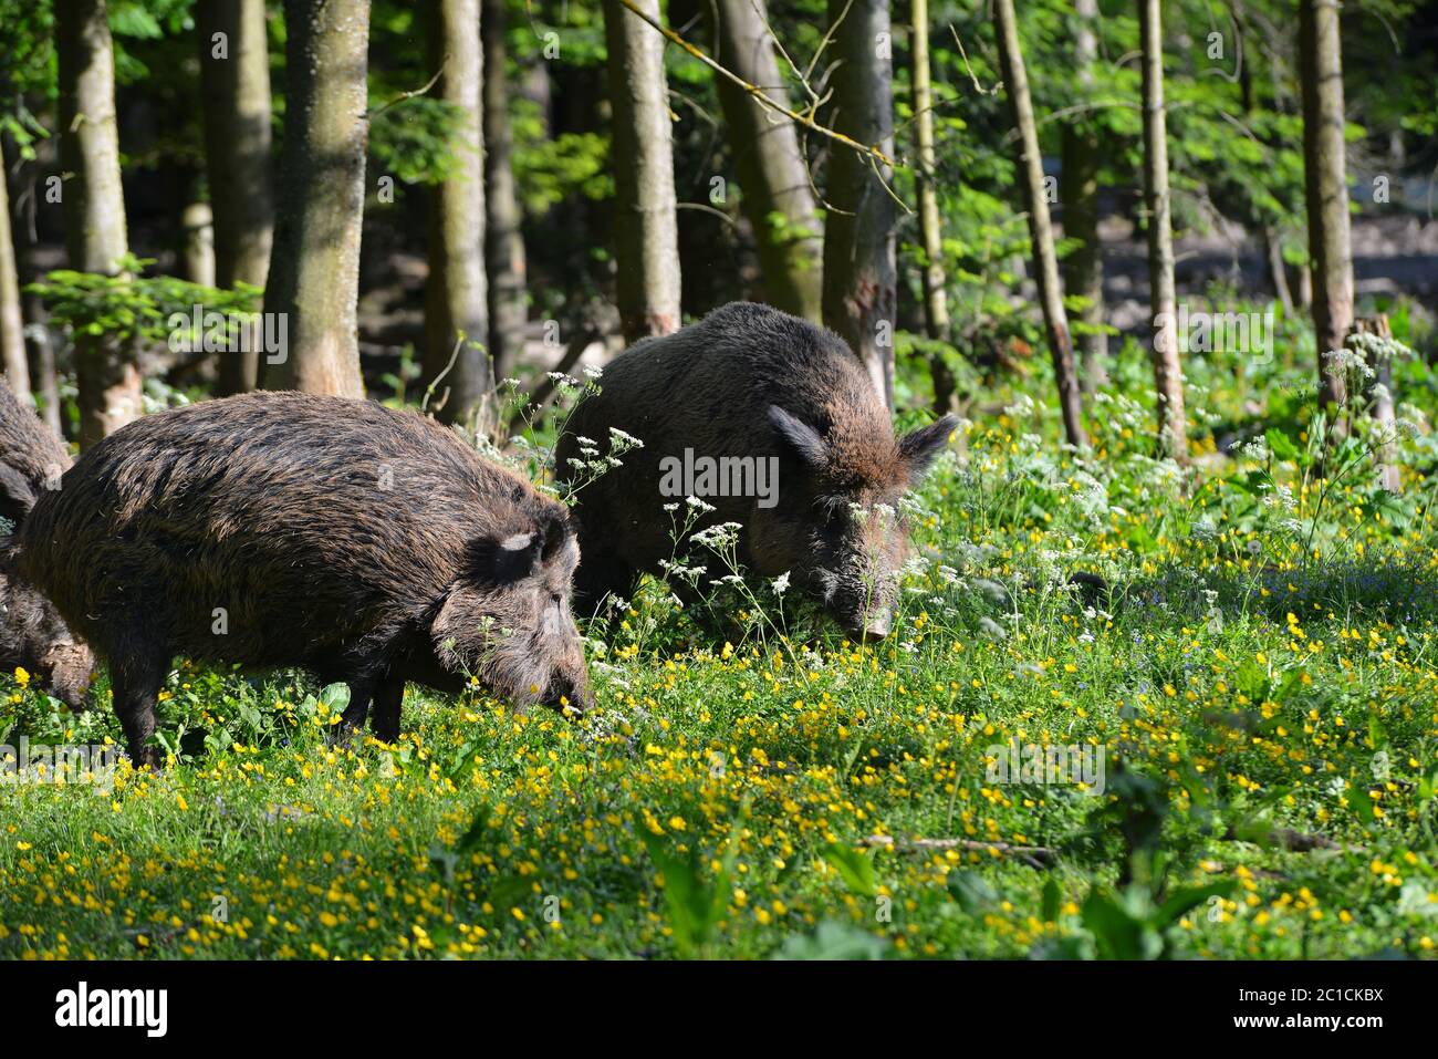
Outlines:
{"label": "sunlit greenish trunk behind left boar's shoulder, beside narrower dark trunk", "polygon": [[[437,94],[460,108],[450,142],[456,170],[430,188],[430,276],[424,291],[424,378],[430,409],[449,423],[487,433],[495,413],[485,282],[485,55],[480,0],[440,0],[433,16]],[[463,340],[462,340],[463,335]]]}

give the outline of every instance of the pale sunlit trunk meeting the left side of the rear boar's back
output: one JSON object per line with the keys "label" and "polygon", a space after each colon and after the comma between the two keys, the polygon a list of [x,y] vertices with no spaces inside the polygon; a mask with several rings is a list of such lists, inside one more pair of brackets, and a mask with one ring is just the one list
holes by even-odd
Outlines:
{"label": "pale sunlit trunk meeting the left side of the rear boar's back", "polygon": [[[659,19],[659,0],[638,0]],[[604,0],[614,137],[615,301],[624,338],[679,327],[679,226],[664,37]]]}

